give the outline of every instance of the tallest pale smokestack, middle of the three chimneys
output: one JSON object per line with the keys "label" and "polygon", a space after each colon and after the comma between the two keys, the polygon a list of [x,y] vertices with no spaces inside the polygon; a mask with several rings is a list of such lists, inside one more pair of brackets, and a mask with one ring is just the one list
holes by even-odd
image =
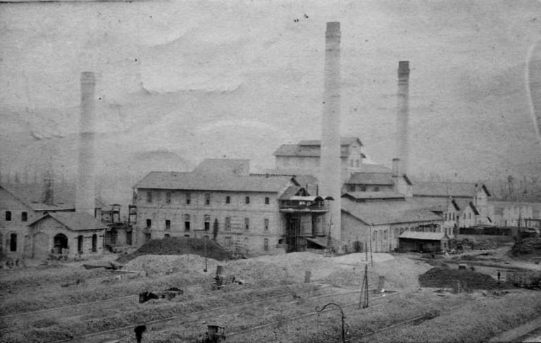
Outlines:
{"label": "tallest pale smokestack, middle of the three chimneys", "polygon": [[338,22],[327,23],[324,82],[320,193],[324,197],[330,196],[334,199],[330,202],[325,231],[330,227],[330,237],[340,240],[342,161],[340,159],[340,23]]}

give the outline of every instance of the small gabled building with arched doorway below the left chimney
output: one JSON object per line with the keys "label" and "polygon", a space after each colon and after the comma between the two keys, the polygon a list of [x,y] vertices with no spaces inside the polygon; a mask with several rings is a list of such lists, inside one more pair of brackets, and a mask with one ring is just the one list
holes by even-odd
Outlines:
{"label": "small gabled building with arched doorway below the left chimney", "polygon": [[28,225],[32,237],[25,254],[46,258],[49,254],[68,258],[101,254],[107,225],[87,213],[46,213]]}

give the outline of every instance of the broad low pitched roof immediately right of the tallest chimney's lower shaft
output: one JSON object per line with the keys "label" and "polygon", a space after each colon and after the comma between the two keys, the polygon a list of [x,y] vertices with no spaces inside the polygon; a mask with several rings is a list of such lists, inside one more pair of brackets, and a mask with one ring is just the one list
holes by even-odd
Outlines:
{"label": "broad low pitched roof immediately right of the tallest chimney's lower shaft", "polygon": [[442,220],[440,216],[424,208],[418,208],[410,201],[381,201],[358,203],[342,198],[342,211],[345,211],[367,225],[417,223],[421,221]]}

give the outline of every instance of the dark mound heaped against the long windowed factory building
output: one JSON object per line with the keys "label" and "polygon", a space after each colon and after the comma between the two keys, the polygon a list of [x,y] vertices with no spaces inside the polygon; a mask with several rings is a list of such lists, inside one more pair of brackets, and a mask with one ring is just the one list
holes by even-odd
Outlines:
{"label": "dark mound heaped against the long windowed factory building", "polygon": [[216,241],[208,238],[169,237],[152,239],[132,254],[120,256],[118,261],[125,263],[142,255],[199,255],[218,261],[230,260],[232,251],[225,249]]}

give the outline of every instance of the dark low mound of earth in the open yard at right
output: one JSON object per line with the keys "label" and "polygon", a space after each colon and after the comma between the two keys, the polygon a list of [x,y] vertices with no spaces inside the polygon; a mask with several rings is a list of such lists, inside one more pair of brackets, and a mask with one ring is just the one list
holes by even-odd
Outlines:
{"label": "dark low mound of earth in the open yard at right", "polygon": [[506,282],[497,282],[489,275],[467,269],[432,268],[419,276],[421,287],[452,288],[459,280],[463,289],[508,289]]}

